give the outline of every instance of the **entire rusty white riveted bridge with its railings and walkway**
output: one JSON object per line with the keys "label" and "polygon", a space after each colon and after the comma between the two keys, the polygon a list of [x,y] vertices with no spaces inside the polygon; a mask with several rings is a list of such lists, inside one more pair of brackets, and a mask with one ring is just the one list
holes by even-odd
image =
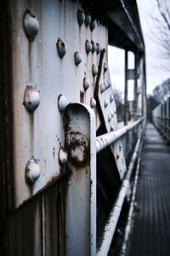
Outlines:
{"label": "entire rusty white riveted bridge with its railings and walkway", "polygon": [[[156,129],[169,140],[170,105],[146,125],[136,1],[1,7],[0,255],[169,255],[169,147]],[[124,49],[122,125],[108,44]]]}

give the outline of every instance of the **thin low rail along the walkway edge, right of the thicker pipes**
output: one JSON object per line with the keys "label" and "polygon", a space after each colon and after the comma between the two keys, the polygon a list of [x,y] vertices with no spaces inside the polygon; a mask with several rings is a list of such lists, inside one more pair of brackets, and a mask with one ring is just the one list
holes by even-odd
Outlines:
{"label": "thin low rail along the walkway edge, right of the thicker pipes", "polygon": [[132,226],[133,208],[134,208],[136,189],[137,189],[137,184],[138,184],[138,179],[139,179],[139,166],[140,166],[140,158],[138,159],[138,164],[137,164],[136,173],[135,173],[135,177],[134,177],[133,195],[132,195],[130,209],[129,209],[128,216],[127,216],[127,225],[125,228],[124,238],[123,238],[123,242],[122,242],[122,248],[121,248],[121,252],[119,253],[119,256],[126,255],[126,253],[127,253],[127,241],[129,239],[131,226]]}

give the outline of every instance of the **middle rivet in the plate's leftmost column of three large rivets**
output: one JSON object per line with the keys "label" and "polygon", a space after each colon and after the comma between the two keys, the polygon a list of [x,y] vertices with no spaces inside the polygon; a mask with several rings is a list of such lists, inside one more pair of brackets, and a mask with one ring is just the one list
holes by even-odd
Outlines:
{"label": "middle rivet in the plate's leftmost column of three large rivets", "polygon": [[40,104],[40,95],[37,90],[33,88],[33,86],[28,85],[25,90],[24,102],[26,110],[29,112],[33,112]]}

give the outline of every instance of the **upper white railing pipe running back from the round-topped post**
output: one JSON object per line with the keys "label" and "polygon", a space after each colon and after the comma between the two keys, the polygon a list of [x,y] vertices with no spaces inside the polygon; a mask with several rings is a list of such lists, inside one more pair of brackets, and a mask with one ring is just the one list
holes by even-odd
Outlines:
{"label": "upper white railing pipe running back from the round-topped post", "polygon": [[124,134],[126,134],[127,131],[130,131],[134,127],[139,125],[139,123],[142,122],[143,120],[144,120],[144,117],[133,122],[133,124],[126,125],[126,126],[122,127],[121,129],[118,129],[116,131],[111,131],[111,132],[105,133],[105,134],[97,137],[96,138],[96,152],[98,153],[102,149],[111,145],[111,143],[114,143],[118,138],[120,138]]}

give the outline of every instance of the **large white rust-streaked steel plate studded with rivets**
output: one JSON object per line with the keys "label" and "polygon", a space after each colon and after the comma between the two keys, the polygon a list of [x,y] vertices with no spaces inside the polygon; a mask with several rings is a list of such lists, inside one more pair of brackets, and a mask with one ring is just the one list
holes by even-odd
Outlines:
{"label": "large white rust-streaked steel plate studded with rivets", "polygon": [[[14,0],[10,2],[9,9],[13,42],[14,170],[11,183],[14,182],[14,191],[9,193],[14,202],[9,206],[12,209],[20,207],[63,174],[58,155],[59,148],[64,147],[65,134],[58,97],[63,95],[68,103],[84,102],[90,106],[96,82],[93,65],[99,66],[100,54],[96,51],[87,54],[86,40],[93,40],[101,49],[106,49],[104,61],[107,62],[108,31],[99,23],[96,23],[93,32],[84,23],[80,26],[77,11],[81,9],[84,12],[80,3]],[[35,15],[39,23],[39,31],[33,41],[28,40],[23,27],[26,9]],[[62,58],[56,47],[59,39],[66,45]],[[82,55],[78,66],[75,65],[75,52]],[[86,90],[84,78],[90,82]],[[33,113],[23,106],[27,85],[40,91],[41,102]],[[96,108],[94,111],[98,128],[99,114]],[[32,156],[40,160],[41,175],[33,185],[29,185],[25,177],[26,163]]]}

